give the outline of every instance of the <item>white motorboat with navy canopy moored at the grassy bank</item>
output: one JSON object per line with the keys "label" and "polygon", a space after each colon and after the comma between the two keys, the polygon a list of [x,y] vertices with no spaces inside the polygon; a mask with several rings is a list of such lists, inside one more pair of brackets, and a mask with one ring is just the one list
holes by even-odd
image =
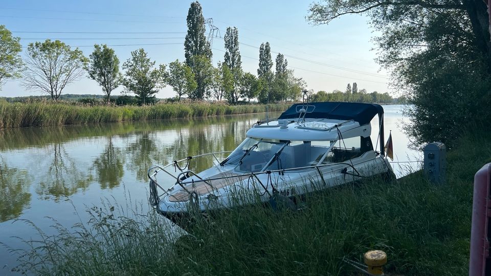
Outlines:
{"label": "white motorboat with navy canopy moored at the grassy bank", "polygon": [[[380,122],[378,151],[370,139],[375,116]],[[378,104],[294,104],[277,119],[255,123],[223,160],[208,153],[150,168],[150,203],[179,224],[190,209],[206,213],[271,202],[275,196],[297,198],[367,177],[393,177],[383,143],[384,109]],[[194,172],[184,166],[207,155],[214,157],[209,169]],[[175,181],[168,189],[157,180],[161,172]]]}

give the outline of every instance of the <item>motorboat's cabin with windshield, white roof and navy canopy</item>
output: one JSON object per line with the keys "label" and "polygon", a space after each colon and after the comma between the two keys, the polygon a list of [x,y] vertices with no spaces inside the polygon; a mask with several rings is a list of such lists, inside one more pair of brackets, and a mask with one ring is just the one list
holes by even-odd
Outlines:
{"label": "motorboat's cabin with windshield, white roof and navy canopy", "polygon": [[[382,117],[383,113],[379,113],[382,107],[378,107],[331,102],[311,103],[308,107],[294,105],[275,121],[255,124],[246,133],[247,138],[221,165],[234,166],[237,172],[255,173],[343,163],[367,152],[374,154],[370,121],[375,114]],[[351,109],[349,115],[336,113],[346,108]]]}

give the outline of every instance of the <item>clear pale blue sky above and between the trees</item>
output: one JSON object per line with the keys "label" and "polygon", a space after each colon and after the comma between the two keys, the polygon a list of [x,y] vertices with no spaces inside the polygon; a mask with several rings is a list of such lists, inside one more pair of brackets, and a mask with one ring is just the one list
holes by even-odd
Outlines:
{"label": "clear pale blue sky above and between the trees", "polygon": [[[80,47],[86,56],[95,43],[115,45],[123,63],[130,52],[144,48],[157,63],[184,60],[186,15],[192,1],[4,1],[0,4],[0,24],[26,46],[47,38],[60,39]],[[379,71],[374,61],[376,51],[367,18],[353,15],[332,21],[329,25],[311,26],[305,20],[311,1],[200,1],[205,18],[213,18],[223,37],[229,26],[239,30],[240,52],[244,71],[256,74],[261,42],[271,44],[273,61],[277,52],[286,56],[288,65],[302,77],[309,89],[344,90],[347,83],[357,82],[366,88],[389,91],[388,72]],[[67,34],[20,32],[135,32],[135,34]],[[144,34],[143,32],[183,32]],[[83,38],[83,39],[82,39]],[[113,39],[111,39],[113,38]],[[114,39],[118,38],[118,39]],[[124,38],[124,39],[121,39]],[[142,45],[155,43],[177,43]],[[213,64],[223,60],[224,41],[213,40]],[[127,45],[132,44],[132,45]],[[138,44],[138,45],[135,45]],[[120,45],[120,46],[116,46]],[[251,47],[253,46],[253,47]],[[221,51],[220,51],[221,50]],[[24,55],[24,54],[23,54]],[[291,56],[291,57],[288,57]],[[295,57],[295,58],[294,58]],[[339,67],[348,70],[342,70]],[[353,72],[356,71],[356,72]],[[359,73],[363,72],[363,73]],[[336,76],[333,76],[336,75]],[[385,76],[385,77],[384,77]],[[114,94],[119,95],[122,88]],[[63,94],[102,94],[93,80],[84,78],[67,86]],[[27,91],[19,81],[4,85],[0,96],[40,95]],[[163,88],[159,98],[174,96],[170,87]]]}

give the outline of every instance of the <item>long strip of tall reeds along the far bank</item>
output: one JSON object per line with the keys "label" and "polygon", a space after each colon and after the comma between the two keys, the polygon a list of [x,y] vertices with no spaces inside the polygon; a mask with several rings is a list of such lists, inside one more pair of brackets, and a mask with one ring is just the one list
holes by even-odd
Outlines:
{"label": "long strip of tall reeds along the far bank", "polygon": [[[291,104],[271,104],[269,111],[284,111]],[[68,103],[8,103],[0,100],[0,129],[32,126],[80,125],[171,118],[192,118],[265,112],[266,105],[188,102],[149,106],[84,106]]]}

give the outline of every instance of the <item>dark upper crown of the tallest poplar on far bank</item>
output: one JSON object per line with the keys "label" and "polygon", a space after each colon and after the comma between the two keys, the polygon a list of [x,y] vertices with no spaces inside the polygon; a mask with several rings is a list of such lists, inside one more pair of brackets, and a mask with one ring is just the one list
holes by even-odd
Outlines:
{"label": "dark upper crown of the tallest poplar on far bank", "polygon": [[186,57],[186,64],[193,68],[192,57],[206,56],[208,59],[212,57],[211,46],[206,41],[205,36],[206,29],[203,9],[197,1],[191,3],[186,21],[188,24],[188,33],[184,40],[184,56]]}

